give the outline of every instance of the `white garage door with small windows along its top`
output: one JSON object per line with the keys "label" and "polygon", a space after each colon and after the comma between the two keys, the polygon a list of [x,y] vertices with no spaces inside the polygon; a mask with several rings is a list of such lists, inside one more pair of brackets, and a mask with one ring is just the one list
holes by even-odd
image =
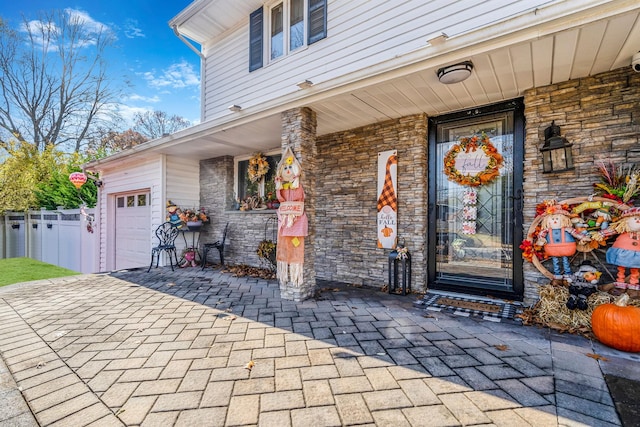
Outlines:
{"label": "white garage door with small windows along its top", "polygon": [[149,192],[116,196],[116,270],[149,265],[151,216]]}

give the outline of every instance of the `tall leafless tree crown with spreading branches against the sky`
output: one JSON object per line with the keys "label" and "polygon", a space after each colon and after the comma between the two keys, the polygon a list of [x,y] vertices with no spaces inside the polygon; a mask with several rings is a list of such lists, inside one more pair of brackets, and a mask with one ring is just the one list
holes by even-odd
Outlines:
{"label": "tall leafless tree crown with spreading branches against the sky", "polygon": [[70,9],[23,17],[18,30],[0,18],[0,145],[15,138],[40,151],[79,151],[94,125],[116,114],[103,60],[113,40],[107,27]]}

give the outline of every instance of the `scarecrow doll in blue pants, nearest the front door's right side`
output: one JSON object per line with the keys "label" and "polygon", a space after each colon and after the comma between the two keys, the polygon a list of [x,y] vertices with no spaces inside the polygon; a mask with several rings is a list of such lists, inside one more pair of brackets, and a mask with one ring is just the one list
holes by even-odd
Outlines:
{"label": "scarecrow doll in blue pants, nearest the front door's right side", "polygon": [[577,250],[576,239],[580,243],[590,240],[588,236],[573,228],[569,212],[555,205],[547,208],[547,216],[542,220],[542,231],[538,234],[536,245],[544,246],[544,252],[553,261],[555,281],[572,281],[569,257]]}

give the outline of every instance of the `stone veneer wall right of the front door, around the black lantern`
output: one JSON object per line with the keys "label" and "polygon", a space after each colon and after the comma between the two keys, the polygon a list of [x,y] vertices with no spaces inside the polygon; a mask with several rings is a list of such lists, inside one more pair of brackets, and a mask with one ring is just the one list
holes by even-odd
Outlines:
{"label": "stone veneer wall right of the front door, around the black lantern", "polygon": [[[595,160],[640,166],[640,74],[630,67],[530,89],[524,105],[525,235],[538,203],[593,193],[593,184],[599,181]],[[552,120],[573,143],[574,171],[542,173],[540,147]],[[528,262],[524,276],[525,301],[537,300],[538,285],[548,279]]]}

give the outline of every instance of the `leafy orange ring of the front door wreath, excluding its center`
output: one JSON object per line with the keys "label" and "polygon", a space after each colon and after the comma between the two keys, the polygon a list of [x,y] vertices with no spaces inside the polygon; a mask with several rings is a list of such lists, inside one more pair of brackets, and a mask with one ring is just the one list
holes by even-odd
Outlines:
{"label": "leafy orange ring of the front door wreath, excluding its center", "polygon": [[[486,166],[484,169],[475,174],[460,171],[458,167],[456,167],[456,158],[458,155],[460,153],[474,153],[478,149],[481,149],[486,156]],[[485,133],[482,135],[473,135],[471,138],[461,138],[459,143],[451,147],[444,157],[444,173],[449,180],[470,187],[477,187],[493,181],[493,179],[500,175],[500,166],[502,166],[502,155],[498,153],[498,150],[493,146]]]}

